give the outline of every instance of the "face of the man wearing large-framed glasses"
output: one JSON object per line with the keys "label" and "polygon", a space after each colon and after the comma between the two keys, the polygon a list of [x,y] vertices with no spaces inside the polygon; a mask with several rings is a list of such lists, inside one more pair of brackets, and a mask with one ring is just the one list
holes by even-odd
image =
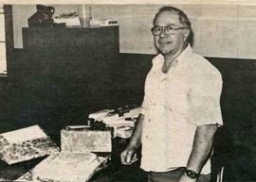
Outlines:
{"label": "face of the man wearing large-framed glasses", "polygon": [[[163,11],[156,17],[155,26],[168,25],[172,25],[175,28],[185,26],[180,24],[179,16],[174,11]],[[188,35],[189,30],[187,28],[175,30],[172,35],[168,35],[165,30],[162,30],[159,35],[154,36],[155,46],[163,55],[174,55],[182,49]]]}

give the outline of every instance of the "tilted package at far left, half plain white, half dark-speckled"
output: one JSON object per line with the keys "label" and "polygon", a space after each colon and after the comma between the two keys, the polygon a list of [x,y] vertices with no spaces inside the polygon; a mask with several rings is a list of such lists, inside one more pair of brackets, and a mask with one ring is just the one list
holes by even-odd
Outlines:
{"label": "tilted package at far left, half plain white, half dark-speckled", "polygon": [[0,158],[13,164],[60,151],[38,125],[0,134]]}

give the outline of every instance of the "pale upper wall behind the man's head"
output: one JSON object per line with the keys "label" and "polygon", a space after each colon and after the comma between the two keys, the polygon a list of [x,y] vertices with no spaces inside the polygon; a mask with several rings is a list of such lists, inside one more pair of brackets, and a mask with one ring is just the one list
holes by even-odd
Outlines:
{"label": "pale upper wall behind the man's head", "polygon": [[[54,6],[54,5],[53,5]],[[55,15],[76,11],[79,5],[55,5]],[[93,18],[117,18],[121,53],[154,54],[150,29],[162,5],[93,5]],[[191,18],[194,49],[206,57],[256,57],[255,5],[175,5]],[[35,12],[34,5],[13,6],[14,44],[22,48],[21,27]]]}

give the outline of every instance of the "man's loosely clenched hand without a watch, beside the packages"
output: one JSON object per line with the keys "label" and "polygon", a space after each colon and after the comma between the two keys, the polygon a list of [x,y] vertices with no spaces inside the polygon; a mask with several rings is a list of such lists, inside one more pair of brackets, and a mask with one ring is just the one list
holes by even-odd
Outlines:
{"label": "man's loosely clenched hand without a watch, beside the packages", "polygon": [[128,147],[120,154],[121,163],[131,165],[137,161],[136,148]]}

